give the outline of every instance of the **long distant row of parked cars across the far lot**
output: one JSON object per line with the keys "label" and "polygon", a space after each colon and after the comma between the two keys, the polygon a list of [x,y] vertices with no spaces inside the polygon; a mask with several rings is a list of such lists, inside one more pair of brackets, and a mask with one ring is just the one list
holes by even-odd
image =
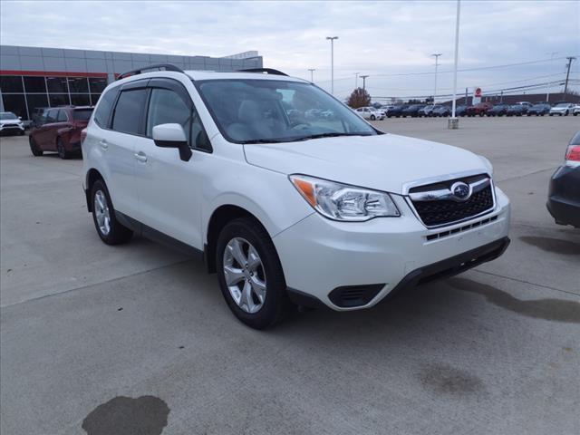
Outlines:
{"label": "long distant row of parked cars across the far lot", "polygon": [[[357,109],[357,112],[364,111],[382,111],[386,118],[421,118],[421,117],[447,117],[451,115],[451,107],[447,104],[395,104],[385,105],[380,109],[365,107]],[[576,116],[580,113],[580,104],[572,102],[557,102],[554,106],[546,102],[517,102],[516,104],[492,104],[490,102],[480,102],[473,106],[458,105],[455,108],[456,116]],[[378,116],[374,118],[364,117],[365,119],[379,120]]]}

